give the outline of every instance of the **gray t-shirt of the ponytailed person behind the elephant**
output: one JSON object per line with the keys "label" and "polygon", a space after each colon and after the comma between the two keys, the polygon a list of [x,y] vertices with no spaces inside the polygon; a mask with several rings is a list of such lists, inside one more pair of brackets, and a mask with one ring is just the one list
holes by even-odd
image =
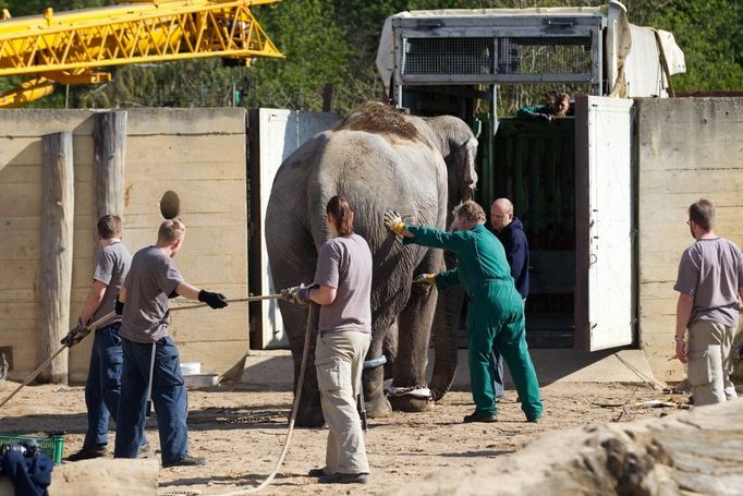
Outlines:
{"label": "gray t-shirt of the ponytailed person behind the elephant", "polygon": [[337,290],[336,300],[320,306],[320,331],[372,331],[372,251],[364,238],[351,234],[326,241],[315,283]]}

